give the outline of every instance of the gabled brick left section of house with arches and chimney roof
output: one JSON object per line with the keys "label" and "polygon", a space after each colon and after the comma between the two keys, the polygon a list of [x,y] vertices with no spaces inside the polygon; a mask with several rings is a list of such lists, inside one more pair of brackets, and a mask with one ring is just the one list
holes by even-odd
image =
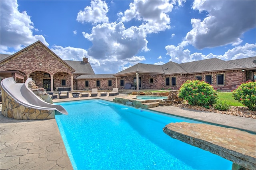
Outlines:
{"label": "gabled brick left section of house with arches and chimney roof", "polygon": [[[64,61],[40,41],[29,45],[13,55],[0,55],[0,71],[16,70],[32,78],[39,88],[48,91],[58,87],[74,90],[74,79],[82,74],[94,74],[90,63],[84,61]],[[77,70],[73,68],[76,66]],[[1,80],[5,76],[1,76]],[[19,79],[16,79],[19,82]],[[75,84],[76,85],[76,84]]]}

